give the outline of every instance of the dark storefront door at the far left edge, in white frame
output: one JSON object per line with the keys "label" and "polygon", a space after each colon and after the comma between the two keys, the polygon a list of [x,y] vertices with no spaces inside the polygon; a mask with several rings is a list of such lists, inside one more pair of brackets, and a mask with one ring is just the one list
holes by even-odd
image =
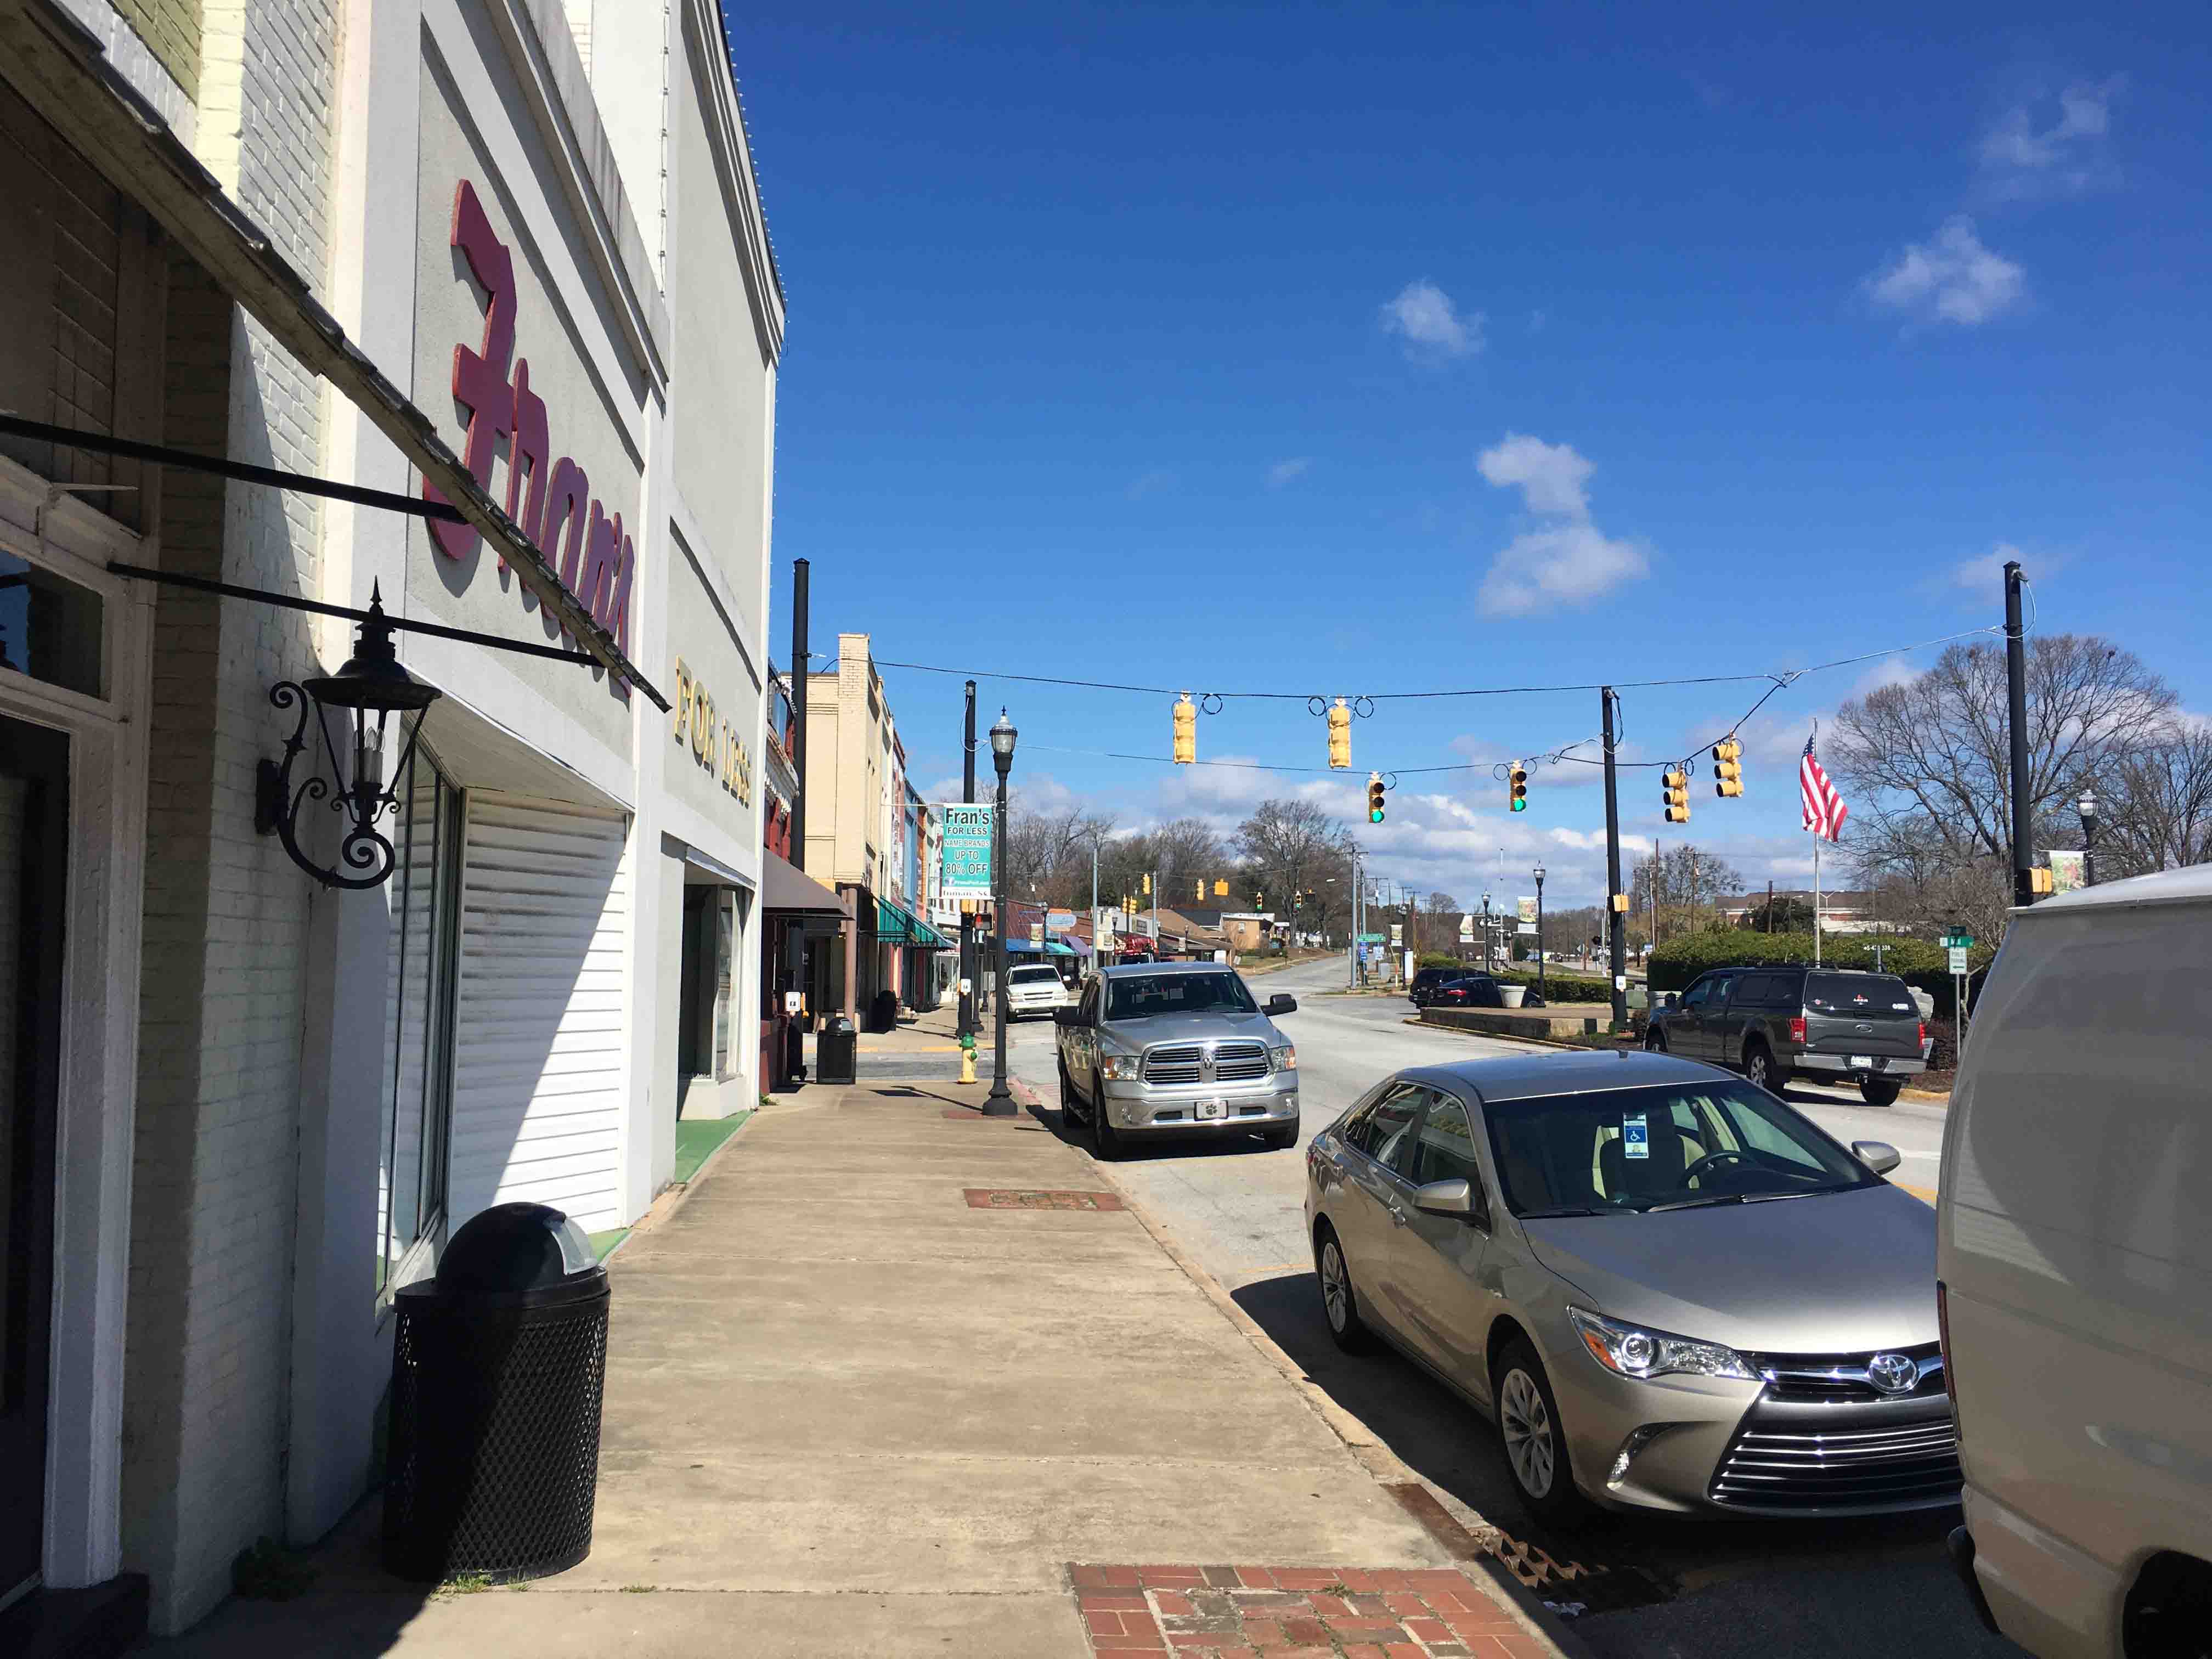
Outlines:
{"label": "dark storefront door at the far left edge, in white frame", "polygon": [[69,739],[0,717],[0,1606],[46,1520]]}

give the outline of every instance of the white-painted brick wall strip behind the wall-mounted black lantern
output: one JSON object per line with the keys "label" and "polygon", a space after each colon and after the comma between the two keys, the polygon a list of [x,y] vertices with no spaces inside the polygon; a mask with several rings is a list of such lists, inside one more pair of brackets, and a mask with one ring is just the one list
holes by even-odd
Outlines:
{"label": "white-painted brick wall strip behind the wall-mounted black lantern", "polygon": [[[327,0],[208,7],[199,77],[201,159],[319,285],[334,24]],[[170,283],[161,440],[323,471],[321,383],[190,263]],[[161,509],[168,568],[321,591],[312,495],[170,473]],[[252,814],[257,763],[292,719],[270,686],[314,670],[299,613],[161,593],[124,1429],[124,1551],[153,1575],[155,1630],[201,1617],[241,1548],[285,1535],[301,980],[319,900]]]}

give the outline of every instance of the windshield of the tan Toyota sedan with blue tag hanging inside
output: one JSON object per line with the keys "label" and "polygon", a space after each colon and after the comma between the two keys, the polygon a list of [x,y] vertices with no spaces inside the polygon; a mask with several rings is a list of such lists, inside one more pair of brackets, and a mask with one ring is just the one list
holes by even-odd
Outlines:
{"label": "windshield of the tan Toyota sedan with blue tag hanging inside", "polygon": [[1880,1179],[1770,1093],[1734,1079],[1482,1110],[1517,1217],[1754,1203]]}

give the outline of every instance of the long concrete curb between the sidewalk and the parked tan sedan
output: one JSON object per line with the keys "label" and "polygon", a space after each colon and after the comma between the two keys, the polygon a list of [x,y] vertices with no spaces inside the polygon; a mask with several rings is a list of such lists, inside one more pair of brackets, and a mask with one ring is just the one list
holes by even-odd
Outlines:
{"label": "long concrete curb between the sidewalk and the parked tan sedan", "polygon": [[[1029,1104],[1037,1104],[1035,1091],[1031,1091]],[[1451,1493],[1431,1486],[1411,1464],[1378,1440],[1365,1422],[1336,1405],[1336,1400],[1332,1400],[1318,1383],[1305,1376],[1298,1363],[1292,1360],[1265,1329],[1261,1329],[1259,1321],[1237,1305],[1237,1298],[1221,1287],[1221,1281],[1201,1267],[1179,1243],[1175,1243],[1166,1223],[1161,1223],[1159,1217],[1155,1217],[1150,1208],[1115,1177],[1115,1168],[1110,1164],[1097,1164],[1097,1172],[1115,1192],[1121,1194],[1121,1208],[1137,1217],[1137,1225],[1150,1234],[1152,1243],[1161,1248],[1168,1261],[1172,1261],[1183,1276],[1199,1287],[1199,1294],[1206,1296],[1206,1301],[1210,1301],[1214,1310],[1237,1327],[1237,1332],[1259,1352],[1263,1360],[1281,1371],[1305,1409],[1321,1418],[1329,1433],[1345,1442],[1345,1449],[1376,1480],[1376,1484],[1383,1486],[1383,1493],[1413,1515],[1413,1520],[1422,1524],[1422,1531],[1427,1531],[1455,1557],[1462,1573],[1480,1577],[1491,1597],[1520,1621],[1531,1641],[1544,1644],[1551,1652],[1562,1655],[1562,1659],[1590,1659],[1590,1648],[1582,1641],[1582,1637],[1577,1637],[1564,1619],[1551,1613],[1551,1608],[1546,1608],[1544,1601],[1520,1584],[1520,1579],[1515,1579],[1498,1559],[1498,1544],[1504,1540],[1504,1533],[1493,1522],[1478,1515]],[[1422,1513],[1431,1506],[1440,1513]]]}

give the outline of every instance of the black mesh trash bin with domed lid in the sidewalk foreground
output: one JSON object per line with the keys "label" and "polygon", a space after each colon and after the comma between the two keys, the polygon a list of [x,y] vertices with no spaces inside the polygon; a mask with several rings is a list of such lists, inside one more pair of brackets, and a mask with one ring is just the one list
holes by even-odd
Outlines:
{"label": "black mesh trash bin with domed lid in the sidewalk foreground", "polygon": [[591,1553],[606,1267],[544,1203],[500,1203],[396,1296],[385,1566],[535,1579]]}

